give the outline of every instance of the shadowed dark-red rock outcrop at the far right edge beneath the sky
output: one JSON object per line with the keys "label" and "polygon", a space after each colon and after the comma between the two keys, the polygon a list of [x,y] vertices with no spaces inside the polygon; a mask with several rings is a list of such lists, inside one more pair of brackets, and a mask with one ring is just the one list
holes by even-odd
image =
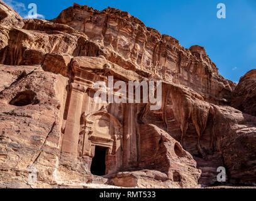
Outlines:
{"label": "shadowed dark-red rock outcrop at the far right edge beneath the sky", "polygon": [[250,70],[233,91],[232,107],[256,116],[256,69]]}

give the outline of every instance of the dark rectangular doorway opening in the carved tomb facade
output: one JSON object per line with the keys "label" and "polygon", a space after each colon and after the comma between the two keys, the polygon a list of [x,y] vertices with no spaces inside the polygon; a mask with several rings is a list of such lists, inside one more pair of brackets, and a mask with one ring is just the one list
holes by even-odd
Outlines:
{"label": "dark rectangular doorway opening in the carved tomb facade", "polygon": [[95,155],[92,158],[92,175],[103,176],[106,174],[106,151],[108,148],[101,146],[95,147]]}

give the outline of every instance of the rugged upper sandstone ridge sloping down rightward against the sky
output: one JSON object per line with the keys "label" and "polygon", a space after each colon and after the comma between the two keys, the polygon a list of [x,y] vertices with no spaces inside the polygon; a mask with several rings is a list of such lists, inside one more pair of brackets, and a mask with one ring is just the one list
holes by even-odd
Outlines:
{"label": "rugged upper sandstone ridge sloping down rightward against the sky", "polygon": [[104,53],[95,52],[97,55],[123,68],[186,85],[215,104],[231,101],[235,84],[221,77],[203,47],[187,50],[175,38],[146,27],[127,12],[114,8],[97,11],[74,4],[52,21],[86,33],[97,46],[105,47]]}

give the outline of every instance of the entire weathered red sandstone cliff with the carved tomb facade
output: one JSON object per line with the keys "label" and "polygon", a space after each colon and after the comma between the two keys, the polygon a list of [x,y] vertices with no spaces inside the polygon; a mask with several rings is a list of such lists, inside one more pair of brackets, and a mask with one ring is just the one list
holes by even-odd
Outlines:
{"label": "entire weathered red sandstone cliff with the carved tomb facade", "polygon": [[[220,166],[227,183],[255,185],[254,71],[236,88],[203,47],[118,9],[0,11],[0,187],[198,188],[218,184]],[[162,80],[162,106],[96,103],[109,76]]]}

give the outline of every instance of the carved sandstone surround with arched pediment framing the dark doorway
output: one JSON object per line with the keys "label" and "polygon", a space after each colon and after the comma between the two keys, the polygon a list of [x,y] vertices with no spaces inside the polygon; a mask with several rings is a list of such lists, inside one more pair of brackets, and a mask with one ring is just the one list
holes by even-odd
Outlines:
{"label": "carved sandstone surround with arched pediment framing the dark doorway", "polygon": [[118,171],[122,166],[121,123],[105,107],[91,114],[82,114],[82,119],[84,128],[79,136],[79,156],[94,158],[96,146],[107,148],[106,174]]}

